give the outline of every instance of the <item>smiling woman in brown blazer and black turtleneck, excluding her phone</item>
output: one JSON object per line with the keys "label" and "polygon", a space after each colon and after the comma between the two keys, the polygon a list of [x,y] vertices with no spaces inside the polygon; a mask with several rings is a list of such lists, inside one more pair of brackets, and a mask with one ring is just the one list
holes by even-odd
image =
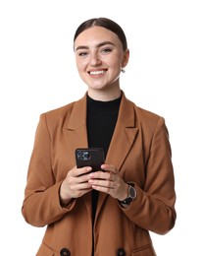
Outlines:
{"label": "smiling woman in brown blazer and black turtleneck, excluding her phone", "polygon": [[[25,221],[47,225],[36,255],[156,255],[149,231],[176,222],[171,146],[163,117],[129,101],[120,74],[129,50],[122,28],[82,23],[74,38],[85,96],[43,113],[27,173]],[[103,148],[101,170],[77,168],[77,148]]]}

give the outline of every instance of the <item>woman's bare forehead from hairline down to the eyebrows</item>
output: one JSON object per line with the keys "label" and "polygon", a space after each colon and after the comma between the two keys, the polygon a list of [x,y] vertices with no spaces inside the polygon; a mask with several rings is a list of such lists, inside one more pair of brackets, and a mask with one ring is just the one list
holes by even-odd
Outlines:
{"label": "woman's bare forehead from hairline down to the eyebrows", "polygon": [[115,45],[122,46],[122,42],[115,32],[111,32],[103,27],[94,26],[76,37],[75,48],[79,45],[94,45],[103,41],[110,41]]}

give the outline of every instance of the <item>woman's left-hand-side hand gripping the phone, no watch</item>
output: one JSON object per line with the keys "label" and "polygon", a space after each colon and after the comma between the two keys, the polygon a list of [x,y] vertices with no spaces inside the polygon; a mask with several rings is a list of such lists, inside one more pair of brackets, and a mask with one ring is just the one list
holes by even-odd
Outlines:
{"label": "woman's left-hand-side hand gripping the phone, no watch", "polygon": [[83,196],[85,193],[92,190],[89,180],[89,172],[91,167],[71,169],[60,188],[60,198],[64,205],[67,205],[71,199]]}

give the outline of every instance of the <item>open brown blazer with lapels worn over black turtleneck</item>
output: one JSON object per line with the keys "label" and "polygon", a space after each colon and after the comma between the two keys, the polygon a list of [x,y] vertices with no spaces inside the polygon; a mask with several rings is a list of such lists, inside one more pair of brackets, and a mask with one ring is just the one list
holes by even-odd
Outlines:
{"label": "open brown blazer with lapels worn over black turtleneck", "polygon": [[[22,212],[34,226],[47,225],[36,255],[91,256],[91,193],[60,205],[59,189],[87,147],[86,96],[43,113],[36,129]],[[123,93],[106,162],[132,181],[137,198],[124,209],[100,193],[93,229],[94,256],[156,255],[149,230],[165,234],[176,222],[176,192],[165,120],[137,107]]]}

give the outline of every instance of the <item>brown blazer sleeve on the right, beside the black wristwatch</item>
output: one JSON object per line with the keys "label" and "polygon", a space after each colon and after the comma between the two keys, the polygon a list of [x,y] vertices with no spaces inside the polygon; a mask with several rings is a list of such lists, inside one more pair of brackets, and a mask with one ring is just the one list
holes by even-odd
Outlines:
{"label": "brown blazer sleeve on the right, beside the black wristwatch", "polygon": [[135,184],[137,198],[123,211],[133,223],[164,234],[174,227],[177,214],[172,151],[163,117],[152,134],[145,175],[144,188]]}

